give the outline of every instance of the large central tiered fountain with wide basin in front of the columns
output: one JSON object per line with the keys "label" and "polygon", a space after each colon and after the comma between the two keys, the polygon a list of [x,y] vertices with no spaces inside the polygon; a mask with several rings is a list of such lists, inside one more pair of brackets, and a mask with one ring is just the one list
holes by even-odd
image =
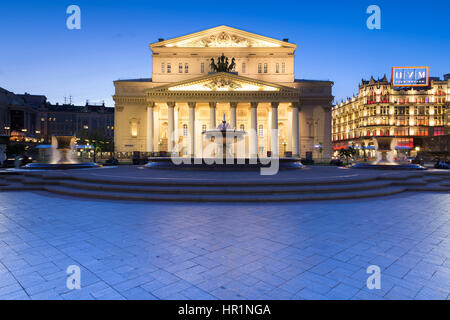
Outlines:
{"label": "large central tiered fountain with wide basin in front of the columns", "polygon": [[[149,162],[145,165],[146,168],[154,169],[171,169],[171,168],[184,168],[184,169],[200,169],[200,170],[221,170],[221,169],[260,169],[271,166],[272,158],[246,158],[243,156],[245,151],[242,150],[243,146],[238,145],[237,156],[233,152],[235,143],[242,141],[247,132],[244,130],[236,130],[231,128],[230,124],[223,115],[222,123],[217,126],[216,129],[210,129],[202,132],[202,136],[211,141],[213,145],[207,146],[206,150],[213,151],[210,154],[205,155],[203,158],[158,158],[151,157]],[[211,148],[213,147],[213,148]],[[211,150],[214,149],[214,150]],[[242,156],[240,156],[242,154]],[[276,158],[279,163],[280,169],[300,169],[302,164],[300,159],[297,158]]]}

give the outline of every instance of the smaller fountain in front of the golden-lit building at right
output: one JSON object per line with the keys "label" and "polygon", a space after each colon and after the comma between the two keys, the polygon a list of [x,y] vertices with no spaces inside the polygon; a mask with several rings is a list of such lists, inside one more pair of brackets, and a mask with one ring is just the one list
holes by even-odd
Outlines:
{"label": "smaller fountain in front of the golden-lit building at right", "polygon": [[394,160],[394,147],[396,139],[392,137],[375,137],[375,150],[377,160],[371,163],[356,163],[355,169],[383,169],[383,170],[425,170],[426,168],[412,163],[396,162]]}

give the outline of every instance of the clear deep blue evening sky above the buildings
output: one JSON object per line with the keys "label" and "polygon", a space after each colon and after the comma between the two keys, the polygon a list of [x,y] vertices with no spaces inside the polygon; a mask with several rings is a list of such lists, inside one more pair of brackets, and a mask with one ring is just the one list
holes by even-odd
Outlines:
{"label": "clear deep blue evening sky above the buildings", "polygon": [[[81,8],[81,30],[66,28],[66,8]],[[366,8],[381,8],[381,30]],[[148,44],[218,25],[282,39],[299,48],[295,75],[335,82],[341,98],[361,78],[392,66],[450,73],[449,1],[2,1],[0,87],[44,94],[51,102],[113,106],[113,80],[151,76]]]}

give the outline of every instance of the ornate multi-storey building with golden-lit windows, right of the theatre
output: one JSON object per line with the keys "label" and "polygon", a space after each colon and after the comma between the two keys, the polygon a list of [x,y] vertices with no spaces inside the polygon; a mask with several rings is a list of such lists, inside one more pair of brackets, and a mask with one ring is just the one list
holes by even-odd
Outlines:
{"label": "ornate multi-storey building with golden-lit windows, right of the theatre", "polygon": [[[419,150],[427,137],[446,134],[445,112],[450,105],[450,79],[430,78],[427,87],[394,88],[387,80],[362,80],[358,95],[333,106],[334,150],[364,142],[373,148],[373,137],[390,136],[398,153]],[[425,138],[425,140],[424,140]]]}

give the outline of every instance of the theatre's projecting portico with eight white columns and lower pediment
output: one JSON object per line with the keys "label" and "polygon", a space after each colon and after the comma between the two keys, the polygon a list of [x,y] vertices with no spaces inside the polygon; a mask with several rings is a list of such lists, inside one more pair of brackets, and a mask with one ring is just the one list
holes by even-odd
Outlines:
{"label": "theatre's projecting portico with eight white columns and lower pediment", "polygon": [[[218,83],[218,85],[211,88],[211,83]],[[233,88],[242,88],[246,84],[256,86],[257,90],[233,90]],[[181,88],[185,90],[180,90]],[[216,119],[221,121],[225,114],[232,129],[248,132],[247,156],[267,156],[268,152],[273,156],[279,155],[278,110],[280,105],[284,111],[284,117],[280,121],[283,127],[290,127],[292,131],[291,134],[283,136],[284,140],[299,134],[298,92],[289,87],[232,74],[214,73],[200,79],[152,88],[146,93],[147,152],[172,153],[175,151],[180,152],[180,156],[190,157],[201,155],[202,146],[205,145],[205,141],[200,140],[201,132],[205,129],[216,128],[218,125]],[[162,128],[162,123],[166,120],[164,116],[155,117],[155,113],[164,115],[166,108],[167,133],[155,130],[157,127]],[[177,122],[175,113],[178,114]],[[287,123],[286,118],[288,113],[293,115],[290,117],[290,124]],[[158,125],[154,123],[155,118],[159,119]],[[161,146],[166,144],[154,143],[163,136],[168,139],[167,150],[161,150]],[[177,143],[184,151],[174,149]],[[293,139],[288,144],[292,146],[292,156],[298,157],[298,139]],[[282,153],[284,156],[284,151]]]}

